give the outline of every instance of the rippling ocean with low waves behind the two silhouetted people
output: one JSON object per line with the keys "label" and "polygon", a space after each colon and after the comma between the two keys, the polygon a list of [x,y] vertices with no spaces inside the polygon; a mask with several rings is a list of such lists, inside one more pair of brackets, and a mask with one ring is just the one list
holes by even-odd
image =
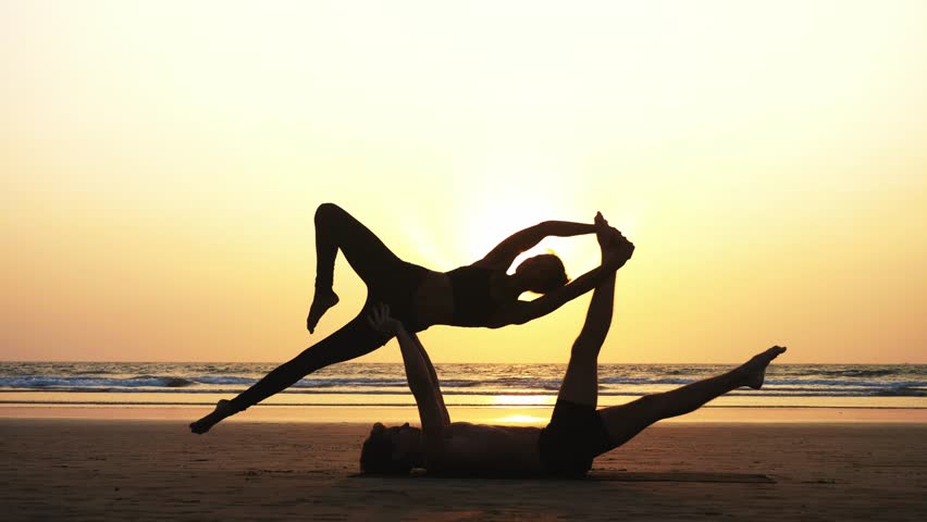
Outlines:
{"label": "rippling ocean with low waves behind the two silhouetted people", "polygon": [[[0,406],[207,406],[231,398],[273,363],[2,362]],[[436,364],[448,407],[549,407],[565,364]],[[731,364],[601,364],[600,406],[628,402],[717,375]],[[267,401],[280,407],[405,407],[400,363],[343,363]],[[774,363],[762,390],[709,407],[927,409],[927,365]]]}

